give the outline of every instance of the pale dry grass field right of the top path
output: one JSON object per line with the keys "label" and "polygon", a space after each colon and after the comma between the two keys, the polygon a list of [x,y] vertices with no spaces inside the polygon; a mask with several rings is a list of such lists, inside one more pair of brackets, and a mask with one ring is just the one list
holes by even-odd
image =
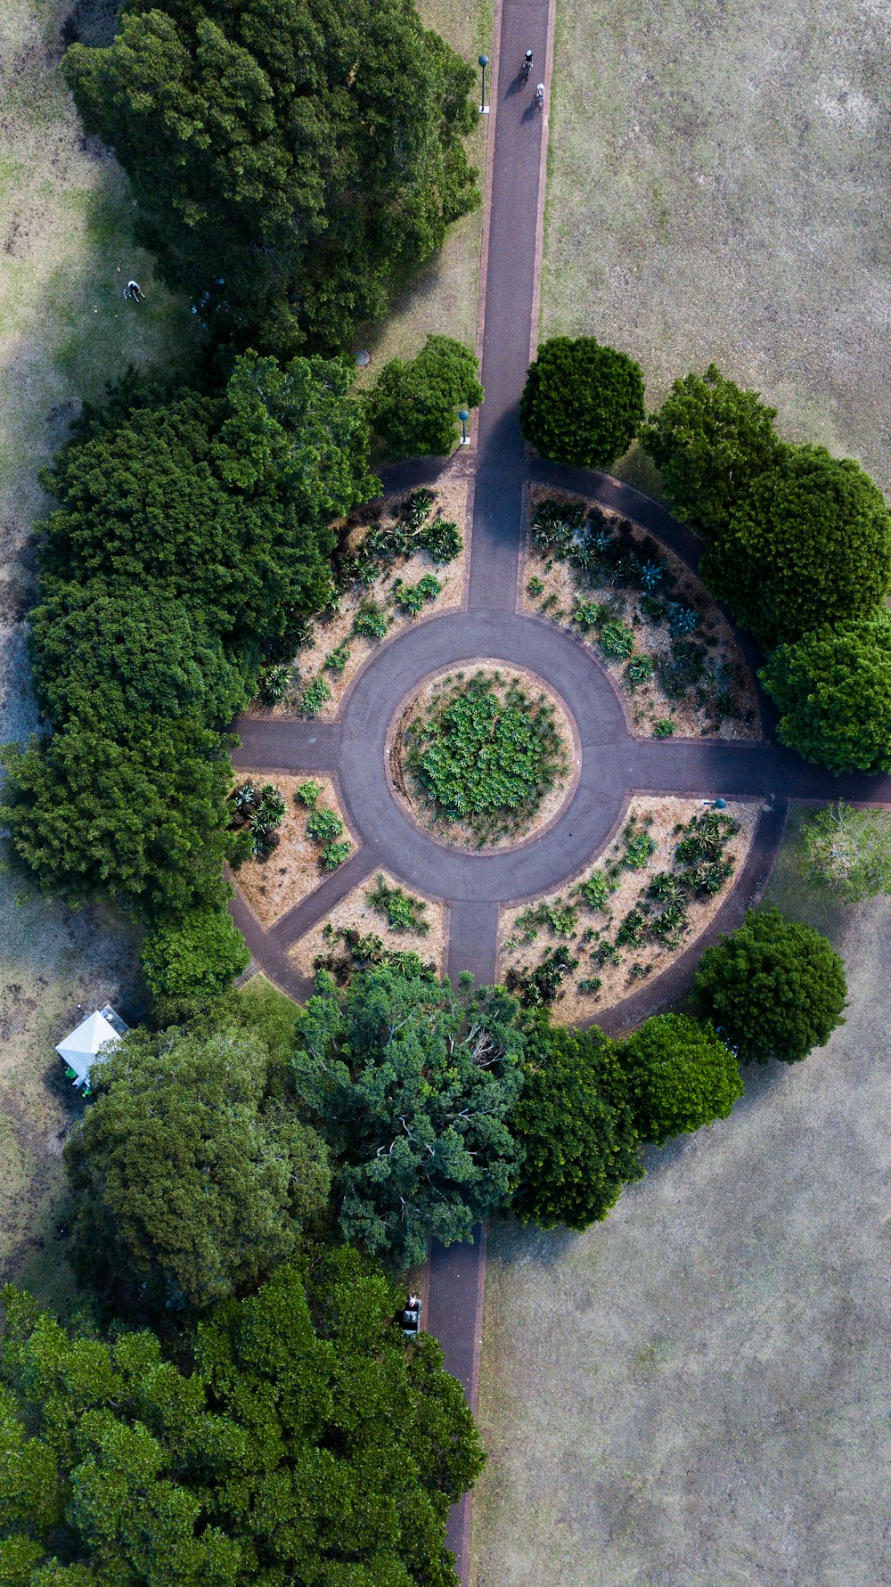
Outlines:
{"label": "pale dry grass field right of the top path", "polygon": [[883,0],[561,0],[543,333],[653,406],[713,359],[891,487],[889,44]]}

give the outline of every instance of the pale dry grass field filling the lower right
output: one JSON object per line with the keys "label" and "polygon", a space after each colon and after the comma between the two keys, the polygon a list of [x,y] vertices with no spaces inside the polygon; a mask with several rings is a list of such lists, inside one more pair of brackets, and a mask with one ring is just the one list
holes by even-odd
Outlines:
{"label": "pale dry grass field filling the lower right", "polygon": [[797,828],[769,900],[845,954],[847,1025],[648,1151],[607,1224],[491,1232],[475,1587],[891,1576],[891,900],[813,895]]}

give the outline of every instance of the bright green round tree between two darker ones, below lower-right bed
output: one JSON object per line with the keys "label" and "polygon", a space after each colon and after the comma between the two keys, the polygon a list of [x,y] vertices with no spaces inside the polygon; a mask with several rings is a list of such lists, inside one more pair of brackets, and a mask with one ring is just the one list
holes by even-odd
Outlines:
{"label": "bright green round tree between two darker ones, below lower-right bed", "polygon": [[742,1097],[740,1068],[712,1025],[656,1014],[621,1049],[637,1128],[661,1144],[726,1119]]}

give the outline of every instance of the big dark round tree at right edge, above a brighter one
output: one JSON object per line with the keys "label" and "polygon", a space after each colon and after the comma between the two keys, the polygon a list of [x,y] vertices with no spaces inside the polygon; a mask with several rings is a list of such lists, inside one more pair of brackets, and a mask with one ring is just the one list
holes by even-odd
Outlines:
{"label": "big dark round tree at right edge, above a brighter one", "polygon": [[770,649],[881,601],[891,582],[891,514],[850,457],[783,446],[739,500],[700,571]]}

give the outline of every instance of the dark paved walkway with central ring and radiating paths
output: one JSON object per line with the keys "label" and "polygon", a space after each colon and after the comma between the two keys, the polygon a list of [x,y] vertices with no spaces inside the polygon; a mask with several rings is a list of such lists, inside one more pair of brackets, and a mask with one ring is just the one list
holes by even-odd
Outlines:
{"label": "dark paved walkway with central ring and radiating paths", "polygon": [[[562,630],[521,613],[521,503],[526,479],[594,497],[643,524],[691,568],[700,543],[664,508],[605,475],[529,462],[518,403],[538,324],[546,110],[534,105],[535,83],[550,90],[553,0],[503,0],[494,25],[494,98],[486,179],[488,252],[483,260],[481,379],[486,402],[476,416],[475,448],[453,462],[419,460],[391,470],[388,489],[434,482],[445,468],[475,467],[472,557],[467,608],[445,613],[384,643],[354,681],[337,722],[245,717],[237,724],[238,770],[335,771],[349,825],[362,846],[314,892],[264,930],[245,900],[232,905],[254,960],[286,992],[307,997],[307,982],[287,947],[321,920],[353,887],[380,868],[449,905],[448,970],[470,970],[476,981],[496,974],[499,905],[561,886],[611,838],[632,794],[686,794],[766,801],[748,862],[705,941],[739,922],[767,882],[789,800],[843,795],[891,803],[891,778],[831,778],[770,741],[775,722],[762,706],[766,740],[637,740],[626,725],[608,674]],[[530,83],[521,81],[524,51],[535,56]],[[754,662],[748,636],[740,643]],[[462,854],[421,832],[397,805],[386,776],[384,744],[408,690],[440,667],[476,655],[499,657],[537,671],[575,717],[581,744],[578,786],[554,824],[507,854]],[[599,1022],[624,1028],[672,1000],[688,982],[704,940],[678,955],[673,968],[626,998]],[[481,1236],[483,1232],[478,1232]],[[475,1406],[483,1316],[484,1238],[473,1246],[435,1247],[430,1257],[427,1327],[446,1366]],[[467,1582],[470,1495],[456,1506],[449,1546]]]}

